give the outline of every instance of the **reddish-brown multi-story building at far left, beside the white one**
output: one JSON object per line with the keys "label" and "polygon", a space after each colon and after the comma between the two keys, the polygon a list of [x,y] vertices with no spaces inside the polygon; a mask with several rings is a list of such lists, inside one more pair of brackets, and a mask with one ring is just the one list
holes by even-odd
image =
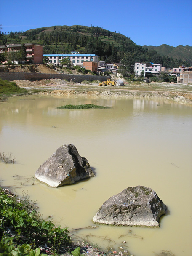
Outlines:
{"label": "reddish-brown multi-story building at far left, beside the white one", "polygon": [[[21,46],[22,44],[0,45],[0,53],[19,51],[21,49]],[[25,43],[27,62],[31,62],[33,64],[42,64],[43,47],[44,45],[40,44]]]}

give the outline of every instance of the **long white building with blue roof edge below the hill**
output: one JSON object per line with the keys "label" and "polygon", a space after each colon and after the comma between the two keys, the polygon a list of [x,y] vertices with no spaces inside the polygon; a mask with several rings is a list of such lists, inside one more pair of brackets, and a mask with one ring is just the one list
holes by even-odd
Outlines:
{"label": "long white building with blue roof edge below the hill", "polygon": [[73,66],[82,66],[84,61],[98,62],[99,56],[95,54],[79,54],[76,51],[72,51],[71,54],[43,54],[49,58],[48,63],[59,65],[60,61],[64,58],[69,58]]}

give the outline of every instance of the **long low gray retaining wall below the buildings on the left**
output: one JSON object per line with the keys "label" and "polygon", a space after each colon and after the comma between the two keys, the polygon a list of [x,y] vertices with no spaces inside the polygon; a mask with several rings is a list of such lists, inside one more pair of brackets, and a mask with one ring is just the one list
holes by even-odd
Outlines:
{"label": "long low gray retaining wall below the buildings on the left", "polygon": [[0,72],[0,78],[3,80],[13,81],[13,80],[41,80],[41,79],[51,79],[59,78],[66,79],[70,82],[72,79],[75,83],[80,83],[84,80],[93,81],[107,81],[107,76],[99,75],[70,75],[70,74],[45,74],[45,73],[24,73],[24,72]]}

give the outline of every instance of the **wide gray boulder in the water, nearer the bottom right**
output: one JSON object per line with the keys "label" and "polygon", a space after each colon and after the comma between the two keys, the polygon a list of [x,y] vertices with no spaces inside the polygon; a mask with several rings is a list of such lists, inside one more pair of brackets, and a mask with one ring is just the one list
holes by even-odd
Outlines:
{"label": "wide gray boulder in the water, nearer the bottom right", "polygon": [[128,187],[110,197],[94,216],[95,223],[117,226],[159,227],[166,205],[150,188]]}

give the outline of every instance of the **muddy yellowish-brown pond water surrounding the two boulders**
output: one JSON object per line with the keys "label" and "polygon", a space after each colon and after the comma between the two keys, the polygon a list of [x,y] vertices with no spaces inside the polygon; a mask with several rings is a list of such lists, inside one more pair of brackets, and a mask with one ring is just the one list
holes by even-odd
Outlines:
{"label": "muddy yellowish-brown pond water surrounding the two boulders", "polygon": [[[64,110],[66,104],[111,109]],[[34,181],[37,168],[72,143],[96,176],[60,188]],[[37,201],[40,213],[72,237],[135,256],[192,252],[192,107],[173,101],[86,96],[19,96],[0,103],[0,184]],[[160,228],[94,225],[97,210],[130,186],[151,187],[168,207]],[[129,229],[131,231],[129,232]],[[126,243],[122,243],[126,241]]]}

